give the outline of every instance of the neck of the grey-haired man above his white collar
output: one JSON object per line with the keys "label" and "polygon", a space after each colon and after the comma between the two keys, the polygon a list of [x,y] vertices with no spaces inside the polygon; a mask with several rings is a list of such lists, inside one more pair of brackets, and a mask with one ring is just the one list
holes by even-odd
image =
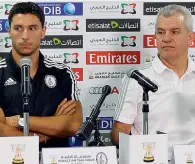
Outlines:
{"label": "neck of the grey-haired man above his white collar", "polygon": [[174,59],[164,59],[161,56],[159,58],[162,61],[162,63],[169,69],[173,70],[178,75],[179,78],[183,76],[183,74],[188,68],[187,55],[177,57]]}

